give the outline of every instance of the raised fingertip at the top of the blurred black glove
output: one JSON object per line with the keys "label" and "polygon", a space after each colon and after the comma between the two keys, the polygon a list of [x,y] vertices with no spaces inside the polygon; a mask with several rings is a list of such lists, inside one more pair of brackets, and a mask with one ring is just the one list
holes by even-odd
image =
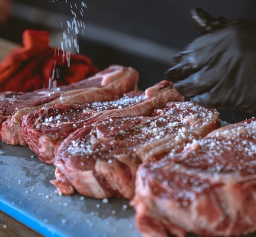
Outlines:
{"label": "raised fingertip at the top of the blurred black glove", "polygon": [[228,24],[228,20],[226,20],[226,18],[214,18],[201,8],[192,9],[191,17],[196,25],[196,28],[202,34],[210,33],[220,28],[225,28]]}

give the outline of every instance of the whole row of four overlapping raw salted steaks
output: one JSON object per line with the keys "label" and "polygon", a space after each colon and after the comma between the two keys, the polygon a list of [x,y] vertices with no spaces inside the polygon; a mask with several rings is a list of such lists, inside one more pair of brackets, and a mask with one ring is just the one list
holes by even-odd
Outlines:
{"label": "whole row of four overlapping raw salted steaks", "polygon": [[220,128],[215,109],[171,82],[137,91],[133,68],[0,94],[0,136],[28,145],[57,193],[129,198],[143,236],[232,236],[256,230],[256,119]]}

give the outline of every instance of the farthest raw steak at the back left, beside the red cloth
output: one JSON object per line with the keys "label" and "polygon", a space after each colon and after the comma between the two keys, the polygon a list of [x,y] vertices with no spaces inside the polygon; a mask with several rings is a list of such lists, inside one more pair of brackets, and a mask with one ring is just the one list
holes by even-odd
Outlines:
{"label": "farthest raw steak at the back left, beside the red cloth", "polygon": [[82,104],[112,100],[135,90],[139,75],[133,68],[112,65],[94,76],[55,91],[0,94],[0,128],[2,141],[9,145],[26,145],[21,134],[23,116],[41,107],[58,103]]}

